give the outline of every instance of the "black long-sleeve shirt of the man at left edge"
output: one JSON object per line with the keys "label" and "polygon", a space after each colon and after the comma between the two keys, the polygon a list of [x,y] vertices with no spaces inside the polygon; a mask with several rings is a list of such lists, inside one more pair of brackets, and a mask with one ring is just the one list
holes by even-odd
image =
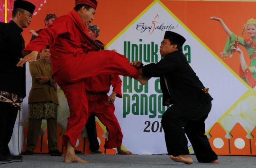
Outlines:
{"label": "black long-sleeve shirt of the man at left edge", "polygon": [[26,97],[26,66],[17,67],[22,58],[22,29],[12,20],[0,23],[0,91]]}

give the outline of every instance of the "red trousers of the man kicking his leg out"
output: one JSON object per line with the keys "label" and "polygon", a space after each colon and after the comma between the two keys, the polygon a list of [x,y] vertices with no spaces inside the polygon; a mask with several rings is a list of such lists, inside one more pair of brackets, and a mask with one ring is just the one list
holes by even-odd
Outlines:
{"label": "red trousers of the man kicking his leg out", "polygon": [[64,91],[70,110],[67,131],[63,136],[64,145],[69,139],[75,147],[88,118],[88,102],[83,79],[98,74],[118,74],[136,79],[139,71],[131,66],[123,55],[102,50],[77,55],[69,66],[55,73],[54,79]]}

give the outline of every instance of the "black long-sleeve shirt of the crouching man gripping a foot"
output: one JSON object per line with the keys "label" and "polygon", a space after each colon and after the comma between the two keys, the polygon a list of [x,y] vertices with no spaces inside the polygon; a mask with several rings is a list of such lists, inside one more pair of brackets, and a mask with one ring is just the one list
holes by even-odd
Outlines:
{"label": "black long-sleeve shirt of the crouching man gripping a foot", "polygon": [[190,67],[182,51],[174,51],[161,59],[142,67],[146,77],[160,77],[163,92],[163,105],[177,104],[187,118],[201,118],[205,114],[194,108],[200,103],[213,100],[209,93],[202,91],[205,87]]}

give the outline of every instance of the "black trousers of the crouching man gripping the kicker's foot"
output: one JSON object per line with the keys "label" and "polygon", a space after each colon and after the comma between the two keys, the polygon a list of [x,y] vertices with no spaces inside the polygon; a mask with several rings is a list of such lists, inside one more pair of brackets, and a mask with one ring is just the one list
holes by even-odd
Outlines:
{"label": "black trousers of the crouching man gripping the kicker's foot", "polygon": [[210,109],[211,102],[200,104],[193,110],[198,110],[205,115],[193,120],[184,118],[182,110],[176,104],[165,111],[162,117],[162,126],[165,132],[168,155],[189,154],[188,141],[185,136],[187,134],[199,162],[210,162],[218,159],[216,153],[211,149],[207,136],[204,134],[204,120],[208,117]]}

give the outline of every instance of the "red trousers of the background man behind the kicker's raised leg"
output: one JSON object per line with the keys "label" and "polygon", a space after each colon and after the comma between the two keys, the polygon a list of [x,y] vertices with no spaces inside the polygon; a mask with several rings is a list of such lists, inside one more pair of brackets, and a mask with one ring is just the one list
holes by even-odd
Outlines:
{"label": "red trousers of the background man behind the kicker's raised leg", "polygon": [[89,116],[94,114],[99,118],[101,123],[106,126],[109,132],[108,140],[104,147],[106,149],[112,149],[121,147],[123,134],[119,122],[114,114],[114,104],[109,104],[107,94],[104,95],[91,95],[87,93]]}

